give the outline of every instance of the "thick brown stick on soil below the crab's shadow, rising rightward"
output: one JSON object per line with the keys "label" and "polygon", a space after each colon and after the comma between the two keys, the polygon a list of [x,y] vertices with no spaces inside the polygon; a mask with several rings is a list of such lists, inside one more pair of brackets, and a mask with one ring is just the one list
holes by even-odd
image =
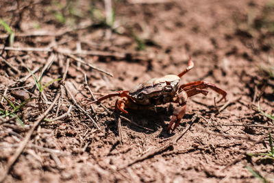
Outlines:
{"label": "thick brown stick on soil below the crab's shadow, rising rightward", "polygon": [[154,149],[154,150],[148,152],[147,154],[144,154],[143,156],[141,156],[139,158],[136,158],[132,162],[129,162],[128,164],[125,164],[123,167],[119,168],[119,170],[125,169],[126,167],[130,167],[130,166],[132,166],[132,164],[135,164],[136,162],[141,162],[141,161],[146,160],[148,158],[152,158],[153,156],[155,156],[157,154],[160,154],[160,153],[168,150],[171,147],[173,147],[173,143],[168,143],[168,144],[164,145],[163,147],[159,147],[158,149]]}

